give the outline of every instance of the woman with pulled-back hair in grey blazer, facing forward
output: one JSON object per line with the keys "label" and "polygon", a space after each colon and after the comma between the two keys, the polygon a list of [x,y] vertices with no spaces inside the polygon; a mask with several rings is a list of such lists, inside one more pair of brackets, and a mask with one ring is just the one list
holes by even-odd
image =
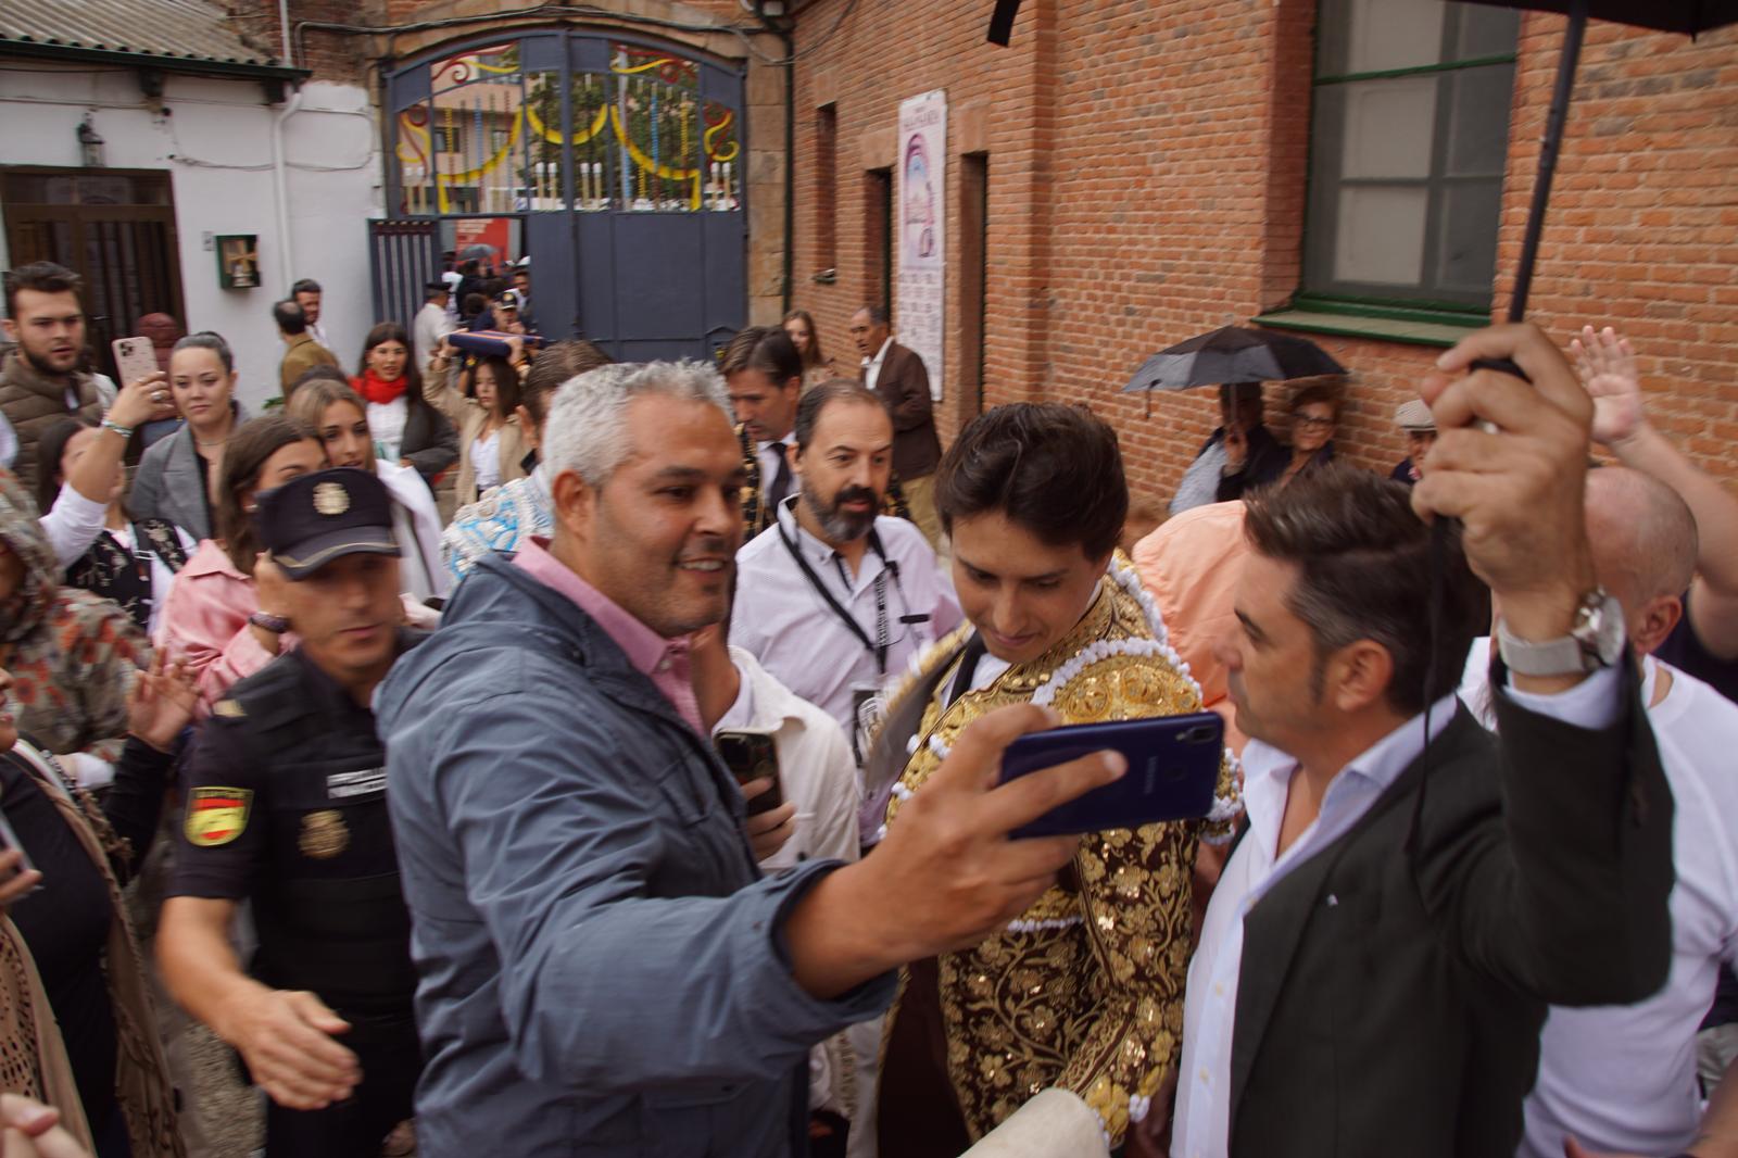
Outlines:
{"label": "woman with pulled-back hair in grey blazer, facing forward", "polygon": [[151,443],[132,480],[132,511],[184,527],[195,539],[212,536],[212,478],[222,466],[229,435],[247,421],[235,400],[235,355],[219,334],[188,334],[169,355],[169,389],[182,426]]}

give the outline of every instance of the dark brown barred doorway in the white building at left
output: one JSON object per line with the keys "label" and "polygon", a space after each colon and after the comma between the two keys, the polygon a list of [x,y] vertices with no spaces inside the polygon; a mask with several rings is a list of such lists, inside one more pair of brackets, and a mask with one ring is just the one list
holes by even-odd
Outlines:
{"label": "dark brown barred doorway in the white building at left", "polygon": [[17,165],[0,170],[0,205],[14,268],[52,261],[83,278],[87,341],[104,374],[115,374],[109,343],[141,315],[186,329],[167,172]]}

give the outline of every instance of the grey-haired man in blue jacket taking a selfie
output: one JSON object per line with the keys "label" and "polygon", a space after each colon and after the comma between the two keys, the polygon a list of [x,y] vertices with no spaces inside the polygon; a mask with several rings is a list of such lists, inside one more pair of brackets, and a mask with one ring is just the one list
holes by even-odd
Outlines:
{"label": "grey-haired man in blue jacket taking a selfie", "polygon": [[761,878],[688,636],[725,617],[742,454],[718,372],[608,365],[556,395],[553,534],[492,553],[377,718],[421,974],[424,1158],[806,1149],[808,1048],[893,970],[1005,927],[1078,840],[1017,826],[1123,770],[989,788],[1055,723],[987,715],[888,855]]}

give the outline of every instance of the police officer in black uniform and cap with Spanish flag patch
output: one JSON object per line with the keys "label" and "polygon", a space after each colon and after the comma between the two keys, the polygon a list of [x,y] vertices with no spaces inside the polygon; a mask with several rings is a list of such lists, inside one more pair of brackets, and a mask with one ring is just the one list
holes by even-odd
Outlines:
{"label": "police officer in black uniform and cap with Spanish flag patch", "polygon": [[[271,1095],[266,1155],[377,1158],[422,1068],[410,916],[370,697],[417,642],[398,602],[391,499],[327,469],[259,496],[261,631],[301,645],[200,729],[158,958],[182,1007]],[[250,974],[229,946],[254,904]]]}

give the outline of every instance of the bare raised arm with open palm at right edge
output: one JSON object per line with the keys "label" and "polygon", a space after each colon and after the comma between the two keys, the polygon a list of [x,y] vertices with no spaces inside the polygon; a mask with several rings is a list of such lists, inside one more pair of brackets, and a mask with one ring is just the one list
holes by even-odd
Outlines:
{"label": "bare raised arm with open palm at right edge", "polygon": [[1609,325],[1583,327],[1569,343],[1575,369],[1594,400],[1594,440],[1689,504],[1696,518],[1696,581],[1689,626],[1708,652],[1738,659],[1738,496],[1696,468],[1648,423],[1635,351]]}

